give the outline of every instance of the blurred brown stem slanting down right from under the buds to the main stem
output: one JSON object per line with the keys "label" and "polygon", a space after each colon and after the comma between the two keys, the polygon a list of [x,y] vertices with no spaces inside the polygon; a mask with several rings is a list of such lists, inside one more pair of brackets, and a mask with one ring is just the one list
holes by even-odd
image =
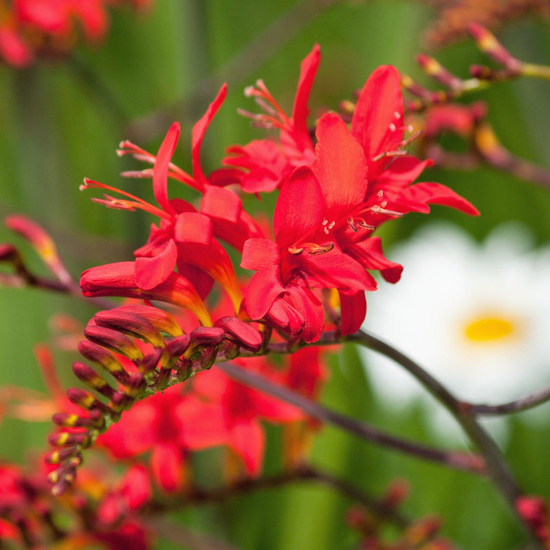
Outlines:
{"label": "blurred brown stem slanting down right from under the buds to the main stem", "polygon": [[420,445],[419,443],[412,443],[406,439],[394,437],[364,422],[358,422],[355,419],[341,415],[334,410],[315,403],[288,388],[272,384],[272,382],[266,380],[264,377],[250,373],[250,371],[245,371],[234,364],[218,363],[216,366],[234,380],[241,382],[241,384],[252,386],[260,391],[274,395],[274,397],[283,399],[287,401],[287,403],[291,403],[304,410],[311,417],[338,426],[339,428],[355,434],[361,439],[371,441],[371,443],[377,443],[383,447],[404,452],[411,456],[416,456],[417,458],[440,463],[456,470],[465,470],[466,472],[474,472],[476,474],[485,473],[485,463],[480,456],[463,452],[434,449],[426,445]]}

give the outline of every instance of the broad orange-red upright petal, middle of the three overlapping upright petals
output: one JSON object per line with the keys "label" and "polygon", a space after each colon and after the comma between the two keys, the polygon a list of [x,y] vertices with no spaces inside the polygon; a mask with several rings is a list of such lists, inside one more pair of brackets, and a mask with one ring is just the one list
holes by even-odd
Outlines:
{"label": "broad orange-red upright petal, middle of the three overlapping upright petals", "polygon": [[338,220],[364,199],[367,186],[365,155],[346,123],[334,113],[321,117],[316,135],[317,157],[311,169],[327,205],[327,219]]}

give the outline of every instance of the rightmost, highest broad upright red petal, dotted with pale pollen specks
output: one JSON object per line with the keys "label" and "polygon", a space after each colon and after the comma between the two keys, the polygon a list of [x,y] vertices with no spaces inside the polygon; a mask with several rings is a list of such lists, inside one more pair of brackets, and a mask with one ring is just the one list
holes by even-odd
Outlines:
{"label": "rightmost, highest broad upright red petal, dotted with pale pollen specks", "polygon": [[369,170],[373,157],[399,146],[402,126],[399,73],[391,65],[378,67],[366,81],[351,120],[351,133],[363,146]]}

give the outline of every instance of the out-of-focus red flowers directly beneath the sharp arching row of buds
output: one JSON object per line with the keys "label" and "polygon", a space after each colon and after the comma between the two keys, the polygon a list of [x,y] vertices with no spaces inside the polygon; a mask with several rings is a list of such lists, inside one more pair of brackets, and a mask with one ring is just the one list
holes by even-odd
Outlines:
{"label": "out-of-focus red flowers directly beneath the sharp arching row of buds", "polygon": [[[265,358],[236,361],[278,384],[278,373]],[[309,370],[308,370],[309,373]],[[300,375],[311,384],[311,374]],[[296,380],[296,375],[292,380]],[[303,413],[283,401],[233,382],[217,369],[197,373],[192,386],[173,386],[137,402],[98,437],[117,459],[151,452],[153,479],[166,491],[181,490],[186,481],[189,451],[227,445],[241,456],[251,475],[261,472],[265,436],[261,419],[281,423],[303,419]]]}

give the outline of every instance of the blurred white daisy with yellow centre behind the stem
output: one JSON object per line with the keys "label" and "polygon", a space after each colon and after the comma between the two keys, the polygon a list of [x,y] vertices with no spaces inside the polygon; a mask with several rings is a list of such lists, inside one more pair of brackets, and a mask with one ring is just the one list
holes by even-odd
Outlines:
{"label": "blurred white daisy with yellow centre behind the stem", "polygon": [[[430,225],[389,256],[403,276],[369,293],[366,331],[465,401],[499,404],[550,383],[550,248],[532,250],[525,228],[501,225],[479,245],[452,225]],[[426,397],[399,365],[362,353],[387,404]]]}

